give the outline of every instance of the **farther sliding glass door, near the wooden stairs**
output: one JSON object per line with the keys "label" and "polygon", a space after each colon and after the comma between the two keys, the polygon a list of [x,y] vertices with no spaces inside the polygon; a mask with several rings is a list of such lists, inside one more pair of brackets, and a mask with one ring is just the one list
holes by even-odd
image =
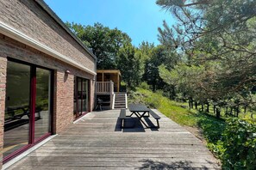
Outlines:
{"label": "farther sliding glass door, near the wooden stairs", "polygon": [[74,118],[89,111],[89,80],[75,77],[74,80]]}

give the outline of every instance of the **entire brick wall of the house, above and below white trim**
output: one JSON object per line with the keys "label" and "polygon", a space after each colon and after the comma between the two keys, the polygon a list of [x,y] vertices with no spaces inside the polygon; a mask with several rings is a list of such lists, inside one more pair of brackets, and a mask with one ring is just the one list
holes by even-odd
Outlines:
{"label": "entire brick wall of the house, above and below white trim", "polygon": [[[42,0],[1,0],[0,26],[8,25],[26,34],[50,50],[64,55],[69,60],[83,65],[89,72],[96,72],[96,59],[81,46],[70,33],[43,9],[38,2]],[[1,28],[1,27],[0,27]],[[95,76],[80,70],[72,64],[67,64],[53,58],[52,53],[36,50],[26,42],[11,39],[8,33],[0,29],[0,149],[3,149],[3,124],[5,109],[5,86],[7,59],[15,58],[28,64],[52,69],[53,82],[53,133],[64,131],[73,122],[73,92],[74,77],[80,76],[90,80],[90,111],[94,106]],[[28,46],[29,45],[29,46]],[[50,54],[50,55],[48,55]],[[68,60],[68,61],[69,61]],[[63,60],[66,61],[66,60]],[[66,70],[70,74],[66,74]],[[3,155],[0,154],[0,169]]]}

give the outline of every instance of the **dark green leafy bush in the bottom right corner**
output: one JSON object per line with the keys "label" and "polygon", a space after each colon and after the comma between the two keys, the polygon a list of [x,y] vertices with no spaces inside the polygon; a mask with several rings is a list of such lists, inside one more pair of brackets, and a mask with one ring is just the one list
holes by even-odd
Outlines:
{"label": "dark green leafy bush in the bottom right corner", "polygon": [[224,169],[255,169],[256,124],[230,118],[223,133],[222,166]]}

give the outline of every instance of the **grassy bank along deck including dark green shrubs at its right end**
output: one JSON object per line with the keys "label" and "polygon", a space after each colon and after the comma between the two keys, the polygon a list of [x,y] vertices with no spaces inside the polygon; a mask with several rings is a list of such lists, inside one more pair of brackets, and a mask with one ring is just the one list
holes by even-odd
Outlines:
{"label": "grassy bank along deck including dark green shrubs at its right end", "polygon": [[169,100],[161,91],[153,93],[150,90],[136,88],[128,94],[129,103],[140,103],[156,108],[178,124],[199,128],[209,149],[217,156],[222,148],[219,140],[225,129],[225,120],[198,110],[189,109],[186,103]]}

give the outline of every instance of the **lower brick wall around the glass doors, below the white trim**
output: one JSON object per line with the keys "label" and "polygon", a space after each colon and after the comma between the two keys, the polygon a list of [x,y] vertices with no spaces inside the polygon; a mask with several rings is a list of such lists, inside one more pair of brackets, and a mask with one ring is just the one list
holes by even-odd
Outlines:
{"label": "lower brick wall around the glass doors, below the white trim", "polygon": [[[53,132],[59,133],[66,129],[73,120],[73,86],[74,76],[80,76],[91,80],[91,109],[94,106],[94,84],[92,83],[94,76],[84,71],[77,70],[76,68],[64,64],[50,56],[34,50],[33,48],[23,45],[14,39],[5,37],[0,33],[0,57],[3,59],[16,58],[21,61],[28,62],[29,64],[36,64],[44,66],[48,69],[55,70],[54,73],[54,99],[53,99]],[[1,58],[2,59],[2,58]],[[1,60],[2,65],[2,60]],[[0,68],[1,69],[1,68]],[[6,69],[6,68],[5,68]],[[66,70],[70,70],[71,74],[66,75]],[[2,70],[1,70],[2,72]],[[0,72],[0,73],[1,73]],[[2,75],[2,74],[0,74]],[[3,72],[5,75],[5,72]],[[2,82],[2,79],[1,79]],[[4,98],[3,98],[4,100]],[[3,101],[4,103],[4,101]],[[90,110],[91,111],[91,110]],[[4,106],[3,106],[4,115]]]}

